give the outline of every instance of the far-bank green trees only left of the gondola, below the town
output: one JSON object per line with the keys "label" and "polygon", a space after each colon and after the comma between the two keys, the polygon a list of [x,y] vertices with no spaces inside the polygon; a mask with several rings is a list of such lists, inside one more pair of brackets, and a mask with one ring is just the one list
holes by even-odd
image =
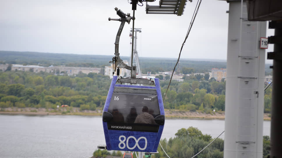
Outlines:
{"label": "far-bank green trees only left of the gondola, below the town", "polygon": [[0,107],[70,105],[95,110],[104,106],[109,86],[109,77],[96,73],[55,76],[43,72],[0,72]]}

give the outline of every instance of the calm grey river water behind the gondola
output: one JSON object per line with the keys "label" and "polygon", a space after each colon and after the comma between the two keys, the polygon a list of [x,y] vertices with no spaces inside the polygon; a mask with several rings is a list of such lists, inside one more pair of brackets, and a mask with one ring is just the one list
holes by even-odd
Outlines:
{"label": "calm grey river water behind the gondola", "polygon": [[[190,126],[215,138],[224,120],[166,119],[162,139]],[[263,135],[270,135],[270,121],[264,121]],[[99,144],[105,144],[101,117],[0,115],[1,158],[89,158]]]}

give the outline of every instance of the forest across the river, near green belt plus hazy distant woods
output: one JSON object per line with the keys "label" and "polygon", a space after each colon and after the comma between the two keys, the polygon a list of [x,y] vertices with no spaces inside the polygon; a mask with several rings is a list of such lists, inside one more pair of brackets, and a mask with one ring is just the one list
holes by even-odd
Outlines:
{"label": "forest across the river, near green belt plus hazy distant woods", "polygon": [[[50,65],[65,65],[74,67],[105,67],[109,66],[112,56],[106,55],[77,55],[60,53],[15,52],[0,51],[0,64],[31,64],[44,67]],[[121,57],[128,60],[129,57]],[[140,58],[143,73],[150,71],[172,71],[175,59],[169,58]],[[175,73],[192,74],[184,76],[183,82],[173,81],[164,100],[166,109],[182,111],[202,111],[211,113],[225,110],[225,81],[217,82],[209,79],[211,68],[226,68],[226,62],[180,60]],[[193,73],[205,73],[205,75]],[[265,73],[271,74],[269,65]],[[169,84],[170,76],[160,78],[162,94]],[[56,107],[70,105],[82,109],[103,109],[111,79],[101,74],[80,73],[76,76],[54,73],[32,73],[22,71],[0,71],[0,107]],[[271,112],[271,86],[265,91],[266,113]]]}

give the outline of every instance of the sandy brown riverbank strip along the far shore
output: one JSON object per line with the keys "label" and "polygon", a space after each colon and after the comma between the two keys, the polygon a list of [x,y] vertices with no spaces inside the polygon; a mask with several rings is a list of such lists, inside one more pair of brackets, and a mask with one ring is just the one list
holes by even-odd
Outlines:
{"label": "sandy brown riverbank strip along the far shore", "polygon": [[[0,114],[11,114],[11,115],[81,115],[81,116],[102,116],[102,110],[82,110],[76,107],[59,107],[57,109],[46,109],[46,108],[17,108],[9,107],[2,108]],[[165,117],[171,119],[225,119],[225,112],[189,112],[179,111],[175,109],[165,109]],[[270,114],[265,113],[263,116],[264,120],[269,121]]]}

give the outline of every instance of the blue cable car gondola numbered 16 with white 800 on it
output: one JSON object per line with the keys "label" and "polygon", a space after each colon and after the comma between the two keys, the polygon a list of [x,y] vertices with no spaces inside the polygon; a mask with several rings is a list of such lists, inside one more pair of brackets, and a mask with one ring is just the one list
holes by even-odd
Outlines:
{"label": "blue cable car gondola numbered 16 with white 800 on it", "polygon": [[[126,80],[141,80],[150,85],[122,85]],[[158,78],[147,80],[113,76],[103,110],[107,150],[157,152],[164,122]]]}

